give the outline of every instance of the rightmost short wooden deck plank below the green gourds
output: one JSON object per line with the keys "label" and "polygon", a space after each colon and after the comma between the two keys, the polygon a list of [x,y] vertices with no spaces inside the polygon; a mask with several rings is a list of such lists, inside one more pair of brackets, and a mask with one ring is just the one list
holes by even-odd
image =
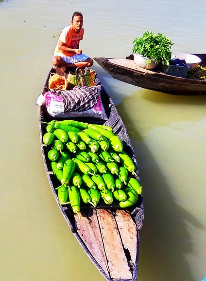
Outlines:
{"label": "rightmost short wooden deck plank below the green gourds", "polygon": [[131,215],[124,210],[116,211],[115,220],[124,248],[128,249],[131,262],[135,263],[137,258],[137,225],[132,220]]}

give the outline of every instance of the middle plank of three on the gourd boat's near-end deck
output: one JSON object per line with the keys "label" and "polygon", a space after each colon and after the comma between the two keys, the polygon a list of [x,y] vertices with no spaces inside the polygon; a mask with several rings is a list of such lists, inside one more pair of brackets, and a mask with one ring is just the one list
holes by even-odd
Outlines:
{"label": "middle plank of three on the gourd boat's near-end deck", "polygon": [[114,215],[97,209],[111,279],[132,279]]}

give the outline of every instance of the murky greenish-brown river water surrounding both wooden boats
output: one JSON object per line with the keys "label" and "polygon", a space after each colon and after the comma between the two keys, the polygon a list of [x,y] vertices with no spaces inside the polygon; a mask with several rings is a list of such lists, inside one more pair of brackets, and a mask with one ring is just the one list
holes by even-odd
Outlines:
{"label": "murky greenish-brown river water surrounding both wooden boats", "polygon": [[[174,53],[206,53],[206,2],[0,1],[1,281],[103,281],[55,201],[39,143],[38,107],[61,29],[84,15],[89,56],[124,57],[149,30]],[[144,187],[138,281],[206,276],[206,96],[153,92],[93,68],[128,129]]]}

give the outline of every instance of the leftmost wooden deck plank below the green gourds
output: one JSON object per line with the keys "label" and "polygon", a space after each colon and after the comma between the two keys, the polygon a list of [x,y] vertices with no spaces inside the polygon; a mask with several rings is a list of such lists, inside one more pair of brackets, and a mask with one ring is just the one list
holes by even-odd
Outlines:
{"label": "leftmost wooden deck plank below the green gourds", "polygon": [[83,209],[81,210],[81,219],[77,215],[74,216],[74,219],[77,232],[85,242],[86,247],[105,273],[109,275],[102,235],[95,209]]}

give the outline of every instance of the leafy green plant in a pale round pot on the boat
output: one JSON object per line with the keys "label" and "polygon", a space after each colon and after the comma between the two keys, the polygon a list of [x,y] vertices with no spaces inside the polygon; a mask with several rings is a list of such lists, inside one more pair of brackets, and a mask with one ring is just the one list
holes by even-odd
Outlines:
{"label": "leafy green plant in a pale round pot on the boat", "polygon": [[162,33],[146,31],[133,41],[134,62],[146,69],[154,69],[158,64],[169,65],[173,45],[171,39]]}

